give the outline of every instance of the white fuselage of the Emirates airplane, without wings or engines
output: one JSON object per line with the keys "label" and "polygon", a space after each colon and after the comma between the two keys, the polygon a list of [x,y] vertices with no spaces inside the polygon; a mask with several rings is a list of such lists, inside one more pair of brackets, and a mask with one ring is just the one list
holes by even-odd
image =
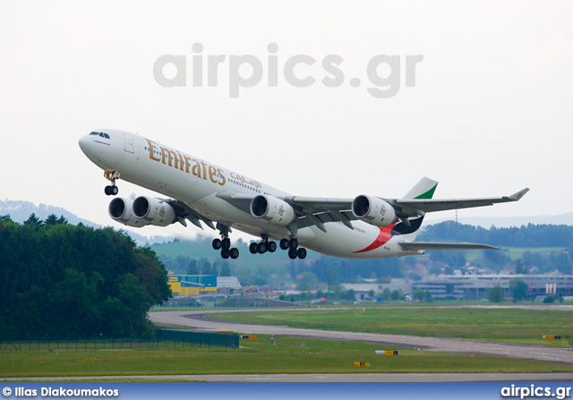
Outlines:
{"label": "white fuselage of the Emirates airplane, without wings or engines", "polygon": [[[292,196],[290,193],[133,133],[98,132],[107,132],[109,138],[86,135],[80,140],[81,149],[100,168],[120,173],[122,180],[183,201],[213,221],[254,236],[279,240],[291,235],[286,226],[253,217],[216,196],[219,191],[278,198]],[[304,247],[343,258],[381,259],[421,253],[403,251],[398,241],[406,237],[391,236],[391,226],[379,228],[362,221],[352,221],[352,226],[354,229],[338,222],[326,223],[326,233],[309,226],[299,229],[296,237]]]}

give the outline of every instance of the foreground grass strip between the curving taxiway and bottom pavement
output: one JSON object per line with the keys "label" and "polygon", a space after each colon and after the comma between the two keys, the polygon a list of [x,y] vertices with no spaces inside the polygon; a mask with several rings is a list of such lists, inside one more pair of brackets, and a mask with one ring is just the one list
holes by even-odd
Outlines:
{"label": "foreground grass strip between the curving taxiway and bottom pavement", "polygon": [[[239,349],[184,347],[88,352],[3,352],[0,377],[363,372],[573,372],[573,366],[497,357],[398,350],[380,345],[269,336]],[[301,346],[304,340],[304,347]],[[369,362],[356,368],[354,362]]]}

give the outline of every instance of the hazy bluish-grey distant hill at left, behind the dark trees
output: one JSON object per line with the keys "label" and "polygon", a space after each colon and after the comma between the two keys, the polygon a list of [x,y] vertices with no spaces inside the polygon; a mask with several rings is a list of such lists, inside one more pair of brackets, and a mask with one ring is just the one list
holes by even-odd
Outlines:
{"label": "hazy bluish-grey distant hill at left, behind the dark trees", "polygon": [[[95,222],[88,221],[81,217],[76,216],[66,209],[60,207],[48,206],[46,204],[35,205],[30,201],[21,200],[0,200],[0,216],[10,215],[14,222],[21,224],[24,222],[30,214],[36,214],[40,219],[46,219],[50,214],[56,214],[57,217],[64,216],[68,222],[72,225],[83,224],[85,226],[91,226],[94,228],[101,228],[103,226],[96,224]],[[144,245],[145,243],[164,243],[173,240],[173,237],[167,236],[143,236],[141,234],[135,234],[127,229],[124,231],[129,234],[133,240]]]}

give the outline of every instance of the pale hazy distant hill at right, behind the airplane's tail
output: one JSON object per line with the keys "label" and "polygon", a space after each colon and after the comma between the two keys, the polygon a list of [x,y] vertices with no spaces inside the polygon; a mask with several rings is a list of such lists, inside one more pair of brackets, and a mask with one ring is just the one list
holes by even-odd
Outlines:
{"label": "pale hazy distant hill at right, behind the airplane's tail", "polygon": [[[453,220],[452,217],[436,218],[427,217],[424,221],[428,225],[439,224],[443,221]],[[460,224],[482,226],[486,229],[492,226],[498,228],[508,228],[511,226],[522,226],[528,224],[535,225],[569,225],[573,226],[573,212],[560,214],[558,216],[536,216],[536,217],[459,217]]]}

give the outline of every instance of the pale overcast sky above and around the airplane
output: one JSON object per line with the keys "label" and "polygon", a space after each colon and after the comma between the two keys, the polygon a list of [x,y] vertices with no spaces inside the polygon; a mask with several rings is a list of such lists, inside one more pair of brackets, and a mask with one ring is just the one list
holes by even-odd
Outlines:
{"label": "pale overcast sky above and around the airplane", "polygon": [[[570,212],[571,21],[569,1],[3,0],[0,198],[111,224],[107,182],[78,147],[81,135],[107,127],[297,195],[400,197],[425,175],[440,182],[440,198],[531,188],[518,203],[461,210],[461,221]],[[186,87],[154,79],[162,55],[186,56]],[[202,87],[193,85],[193,55],[202,56]],[[207,87],[209,55],[226,55],[216,87]],[[237,55],[260,60],[262,79],[231,98]],[[309,87],[285,76],[295,55],[316,60],[294,69],[316,80]],[[329,55],[344,60],[337,87],[321,82],[333,78],[321,64]],[[389,64],[369,74],[377,55],[398,56],[398,79]],[[415,86],[406,86],[409,55],[423,55]],[[167,79],[175,72],[162,70]],[[252,68],[240,72],[248,78]],[[396,94],[372,96],[367,88],[389,89],[372,73],[399,82]]]}

